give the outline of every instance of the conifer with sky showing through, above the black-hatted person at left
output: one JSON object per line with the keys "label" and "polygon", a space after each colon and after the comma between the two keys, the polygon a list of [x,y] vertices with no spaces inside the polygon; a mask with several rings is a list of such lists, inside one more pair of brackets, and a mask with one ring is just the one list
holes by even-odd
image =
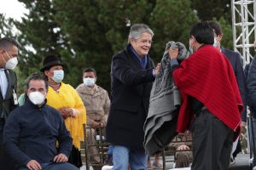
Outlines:
{"label": "conifer with sky showing through, above the black-hatted person at left", "polygon": [[32,72],[39,72],[42,60],[46,54],[61,55],[61,59],[69,61],[71,58],[68,41],[62,34],[60,26],[54,20],[55,9],[50,0],[19,0],[29,9],[21,21],[15,21],[20,31],[20,88],[24,87],[24,80]]}

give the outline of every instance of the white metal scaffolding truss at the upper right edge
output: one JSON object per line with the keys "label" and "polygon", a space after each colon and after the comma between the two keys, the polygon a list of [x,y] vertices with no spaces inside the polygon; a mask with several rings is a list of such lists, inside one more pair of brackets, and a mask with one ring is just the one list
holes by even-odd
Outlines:
{"label": "white metal scaffolding truss at the upper right edge", "polygon": [[241,54],[243,64],[253,59],[256,40],[256,0],[231,0],[234,51]]}

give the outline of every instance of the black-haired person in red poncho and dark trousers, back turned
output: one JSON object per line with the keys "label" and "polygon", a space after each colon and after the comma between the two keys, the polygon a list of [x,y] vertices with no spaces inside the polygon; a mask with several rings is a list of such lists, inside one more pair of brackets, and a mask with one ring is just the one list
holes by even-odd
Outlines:
{"label": "black-haired person in red poncho and dark trousers, back turned", "polygon": [[169,49],[172,76],[183,99],[177,132],[191,127],[192,170],[226,170],[243,109],[236,77],[228,59],[212,47],[214,35],[207,22],[192,26],[189,37],[195,53],[180,65],[178,49]]}

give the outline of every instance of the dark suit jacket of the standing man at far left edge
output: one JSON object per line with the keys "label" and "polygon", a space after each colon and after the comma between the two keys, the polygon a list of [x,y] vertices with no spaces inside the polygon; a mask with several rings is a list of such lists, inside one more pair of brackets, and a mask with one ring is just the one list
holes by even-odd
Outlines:
{"label": "dark suit jacket of the standing man at far left edge", "polygon": [[0,116],[3,113],[3,118],[7,118],[9,116],[9,112],[13,111],[18,104],[15,104],[14,92],[16,93],[17,87],[17,77],[15,71],[12,70],[4,70],[5,75],[8,81],[8,88],[6,92],[6,96],[3,99],[3,94],[0,90]]}

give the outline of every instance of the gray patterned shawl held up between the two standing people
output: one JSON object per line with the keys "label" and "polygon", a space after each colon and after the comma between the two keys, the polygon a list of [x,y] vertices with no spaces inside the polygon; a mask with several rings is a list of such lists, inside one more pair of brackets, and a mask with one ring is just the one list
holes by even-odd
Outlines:
{"label": "gray patterned shawl held up between the two standing people", "polygon": [[144,147],[148,155],[163,150],[177,134],[177,114],[181,98],[172,78],[168,54],[170,47],[179,48],[178,62],[189,57],[189,52],[183,43],[166,43],[160,71],[155,77],[150,94],[148,117],[144,123]]}

